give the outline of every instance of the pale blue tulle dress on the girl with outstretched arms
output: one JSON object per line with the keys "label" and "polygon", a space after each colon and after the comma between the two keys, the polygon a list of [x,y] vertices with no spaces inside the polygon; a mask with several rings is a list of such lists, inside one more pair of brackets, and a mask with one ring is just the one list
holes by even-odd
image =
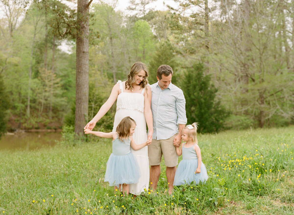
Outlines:
{"label": "pale blue tulle dress on the girl with outstretched arms", "polygon": [[106,163],[104,182],[109,186],[118,184],[138,183],[140,177],[139,165],[130,151],[131,140],[112,141],[112,153]]}

